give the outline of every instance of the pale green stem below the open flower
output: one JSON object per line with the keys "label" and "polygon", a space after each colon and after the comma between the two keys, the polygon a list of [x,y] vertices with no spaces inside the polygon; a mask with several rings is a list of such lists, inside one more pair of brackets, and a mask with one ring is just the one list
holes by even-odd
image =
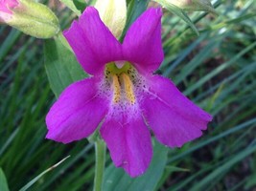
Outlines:
{"label": "pale green stem below the open flower", "polygon": [[94,177],[94,191],[102,191],[105,170],[105,142],[98,139],[95,142],[95,177]]}

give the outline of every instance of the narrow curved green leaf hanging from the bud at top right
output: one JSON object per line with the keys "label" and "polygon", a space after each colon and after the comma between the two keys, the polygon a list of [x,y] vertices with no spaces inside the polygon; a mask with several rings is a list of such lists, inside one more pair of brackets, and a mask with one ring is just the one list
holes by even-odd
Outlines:
{"label": "narrow curved green leaf hanging from the bud at top right", "polygon": [[187,15],[187,13],[185,11],[181,10],[180,8],[176,7],[175,5],[173,5],[171,3],[168,3],[167,1],[163,1],[163,0],[154,0],[154,1],[161,4],[168,11],[175,13],[178,17],[180,17],[183,21],[185,21],[191,27],[191,29],[197,33],[197,35],[199,35],[199,32],[198,32],[196,26],[191,21],[191,19],[189,18],[189,16]]}

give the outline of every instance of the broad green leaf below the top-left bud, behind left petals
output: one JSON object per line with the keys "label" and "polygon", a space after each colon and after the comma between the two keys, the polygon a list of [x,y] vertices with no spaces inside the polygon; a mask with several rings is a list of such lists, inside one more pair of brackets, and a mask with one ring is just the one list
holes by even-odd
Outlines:
{"label": "broad green leaf below the top-left bud, behind left petals", "polygon": [[64,47],[58,39],[45,41],[44,62],[51,88],[56,96],[71,83],[87,76],[74,53]]}

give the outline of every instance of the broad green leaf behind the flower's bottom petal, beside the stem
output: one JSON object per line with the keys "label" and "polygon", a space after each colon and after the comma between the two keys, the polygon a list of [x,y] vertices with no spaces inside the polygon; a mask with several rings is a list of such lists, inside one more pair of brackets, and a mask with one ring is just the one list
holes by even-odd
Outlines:
{"label": "broad green leaf behind the flower's bottom petal, beside the stem", "polygon": [[168,148],[154,141],[150,168],[138,178],[131,179],[121,168],[110,164],[105,171],[104,191],[154,190],[161,179],[167,161]]}

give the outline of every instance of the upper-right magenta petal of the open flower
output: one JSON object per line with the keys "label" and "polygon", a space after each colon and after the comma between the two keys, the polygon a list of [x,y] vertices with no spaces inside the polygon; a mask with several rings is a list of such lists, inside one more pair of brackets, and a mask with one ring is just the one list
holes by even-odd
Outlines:
{"label": "upper-right magenta petal of the open flower", "polygon": [[145,11],[129,28],[123,43],[125,59],[141,72],[153,72],[164,58],[161,43],[161,9]]}

